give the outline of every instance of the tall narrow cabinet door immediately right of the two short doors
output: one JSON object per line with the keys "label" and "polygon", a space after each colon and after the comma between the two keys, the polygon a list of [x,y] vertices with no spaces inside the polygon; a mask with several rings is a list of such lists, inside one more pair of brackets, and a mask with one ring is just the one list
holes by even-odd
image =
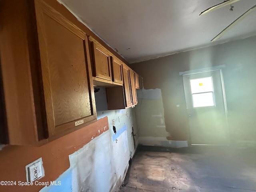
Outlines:
{"label": "tall narrow cabinet door immediately right of the two short doors", "polygon": [[130,84],[130,72],[128,66],[123,64],[123,76],[124,76],[124,96],[126,101],[126,107],[132,106],[132,92]]}

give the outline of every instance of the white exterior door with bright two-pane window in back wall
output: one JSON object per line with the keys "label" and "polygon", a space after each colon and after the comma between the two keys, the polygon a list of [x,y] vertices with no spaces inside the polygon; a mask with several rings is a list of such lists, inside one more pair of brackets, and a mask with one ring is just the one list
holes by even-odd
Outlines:
{"label": "white exterior door with bright two-pane window in back wall", "polygon": [[183,75],[191,144],[229,143],[221,70]]}

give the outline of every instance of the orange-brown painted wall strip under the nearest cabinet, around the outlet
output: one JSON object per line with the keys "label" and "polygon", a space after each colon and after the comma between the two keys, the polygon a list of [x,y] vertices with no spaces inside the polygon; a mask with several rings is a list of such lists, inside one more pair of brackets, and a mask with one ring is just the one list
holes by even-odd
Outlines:
{"label": "orange-brown painted wall strip under the nearest cabinet, around the outlet", "polygon": [[4,146],[0,151],[0,180],[16,181],[17,185],[0,186],[0,191],[40,190],[43,186],[20,187],[18,185],[18,181],[26,182],[25,166],[40,157],[42,157],[45,176],[39,181],[50,182],[56,180],[70,166],[68,155],[79,150],[92,140],[86,136],[88,130],[94,130],[95,137],[102,134],[102,132],[108,130],[108,118],[102,118],[94,124],[90,124],[40,147]]}

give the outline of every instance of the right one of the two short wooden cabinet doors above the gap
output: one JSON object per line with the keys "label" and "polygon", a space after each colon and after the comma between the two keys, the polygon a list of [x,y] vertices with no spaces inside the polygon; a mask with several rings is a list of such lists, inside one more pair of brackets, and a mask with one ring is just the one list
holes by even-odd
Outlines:
{"label": "right one of the two short wooden cabinet doors above the gap", "polygon": [[116,83],[123,83],[122,62],[116,57],[111,56],[111,66],[113,81]]}

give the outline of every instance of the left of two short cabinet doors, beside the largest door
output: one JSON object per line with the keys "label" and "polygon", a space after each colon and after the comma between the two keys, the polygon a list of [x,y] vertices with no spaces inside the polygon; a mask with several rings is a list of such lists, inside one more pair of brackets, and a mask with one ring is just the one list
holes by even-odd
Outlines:
{"label": "left of two short cabinet doors, beside the largest door", "polygon": [[108,50],[98,42],[92,41],[92,55],[94,76],[112,81],[110,54]]}

